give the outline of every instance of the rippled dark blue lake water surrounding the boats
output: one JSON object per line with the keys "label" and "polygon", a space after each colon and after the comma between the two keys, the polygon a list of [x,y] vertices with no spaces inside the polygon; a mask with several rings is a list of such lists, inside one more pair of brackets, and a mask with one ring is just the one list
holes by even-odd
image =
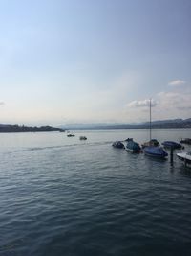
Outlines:
{"label": "rippled dark blue lake water surrounding the boats", "polygon": [[0,255],[191,255],[191,170],[111,147],[146,130],[74,133],[0,134]]}

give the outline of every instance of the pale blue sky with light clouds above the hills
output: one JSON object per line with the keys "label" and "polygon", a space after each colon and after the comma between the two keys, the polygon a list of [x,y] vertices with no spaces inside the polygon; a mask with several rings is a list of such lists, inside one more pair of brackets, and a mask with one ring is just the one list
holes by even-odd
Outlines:
{"label": "pale blue sky with light clouds above the hills", "polygon": [[190,0],[0,0],[0,123],[191,117]]}

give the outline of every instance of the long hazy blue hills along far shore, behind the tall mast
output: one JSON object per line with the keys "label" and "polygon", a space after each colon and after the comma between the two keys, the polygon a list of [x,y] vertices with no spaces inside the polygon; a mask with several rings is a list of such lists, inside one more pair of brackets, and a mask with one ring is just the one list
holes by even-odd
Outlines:
{"label": "long hazy blue hills along far shore, behind the tall mast", "polygon": [[[71,124],[60,126],[64,129],[148,129],[150,123],[141,124]],[[191,118],[188,119],[172,119],[159,120],[152,122],[152,128],[191,128]]]}

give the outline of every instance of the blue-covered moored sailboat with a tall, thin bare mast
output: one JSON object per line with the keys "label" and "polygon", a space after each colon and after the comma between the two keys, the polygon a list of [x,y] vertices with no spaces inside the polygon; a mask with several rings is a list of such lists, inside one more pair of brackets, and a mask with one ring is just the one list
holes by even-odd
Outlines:
{"label": "blue-covered moored sailboat with a tall, thin bare mast", "polygon": [[152,140],[151,139],[151,99],[150,99],[150,144],[146,147],[144,147],[144,153],[146,155],[152,156],[152,157],[157,157],[157,158],[165,158],[166,156],[168,156],[168,153],[166,151],[164,151],[161,147],[159,147],[159,145],[152,145],[153,142],[156,141],[156,143],[158,142],[157,140]]}

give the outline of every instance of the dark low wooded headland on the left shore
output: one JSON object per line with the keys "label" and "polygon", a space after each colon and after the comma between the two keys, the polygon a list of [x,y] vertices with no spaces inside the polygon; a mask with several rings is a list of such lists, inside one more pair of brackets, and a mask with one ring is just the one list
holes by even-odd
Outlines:
{"label": "dark low wooded headland on the left shore", "polygon": [[19,125],[0,124],[0,132],[39,132],[39,131],[63,131],[61,128],[53,128],[51,126],[27,127]]}

